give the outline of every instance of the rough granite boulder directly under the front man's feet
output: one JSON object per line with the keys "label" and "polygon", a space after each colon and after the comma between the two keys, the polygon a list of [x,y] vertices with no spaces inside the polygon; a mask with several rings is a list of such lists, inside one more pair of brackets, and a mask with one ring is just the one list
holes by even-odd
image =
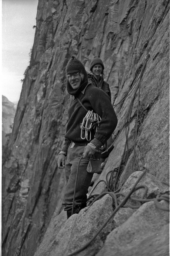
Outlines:
{"label": "rough granite boulder directly under the front man's feet", "polygon": [[[53,221],[53,225],[48,228],[46,235],[40,244],[35,256],[65,256],[86,244],[99,227],[112,214],[112,198],[105,195],[101,201],[95,202],[92,207],[82,209],[79,214],[72,215],[68,220],[65,219],[60,230],[56,232],[53,227],[60,227],[61,212]],[[66,216],[66,213],[65,213]],[[98,218],[100,216],[100,218]],[[109,221],[100,235],[87,247],[81,255],[94,255],[103,246],[103,241],[113,229],[113,220]]]}

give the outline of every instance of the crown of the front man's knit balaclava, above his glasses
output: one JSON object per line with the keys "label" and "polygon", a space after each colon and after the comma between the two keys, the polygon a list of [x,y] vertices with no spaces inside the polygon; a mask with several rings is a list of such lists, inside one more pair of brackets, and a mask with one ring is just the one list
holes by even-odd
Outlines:
{"label": "crown of the front man's knit balaclava, above his glasses", "polygon": [[66,66],[66,75],[76,72],[83,73],[86,76],[84,65],[75,56],[72,56]]}

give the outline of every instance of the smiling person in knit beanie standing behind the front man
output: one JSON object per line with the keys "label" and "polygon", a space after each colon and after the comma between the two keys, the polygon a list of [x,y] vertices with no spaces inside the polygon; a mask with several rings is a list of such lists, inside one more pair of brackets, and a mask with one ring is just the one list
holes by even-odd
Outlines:
{"label": "smiling person in knit beanie standing behind the front man", "polygon": [[94,57],[90,62],[90,71],[91,72],[88,74],[89,81],[91,81],[91,83],[94,84],[96,87],[101,88],[101,90],[104,90],[104,92],[107,93],[111,100],[109,84],[106,81],[104,81],[103,61],[98,57]]}

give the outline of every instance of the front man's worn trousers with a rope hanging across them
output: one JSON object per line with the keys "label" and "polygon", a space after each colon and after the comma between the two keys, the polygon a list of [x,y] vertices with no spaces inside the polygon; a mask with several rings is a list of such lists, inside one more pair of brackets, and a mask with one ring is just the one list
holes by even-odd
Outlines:
{"label": "front man's worn trousers with a rope hanging across them", "polygon": [[[71,211],[74,189],[75,189],[75,179],[77,174],[78,162],[84,153],[85,146],[72,144],[68,148],[67,159],[65,163],[65,175],[66,175],[66,188],[63,197],[63,207],[64,211]],[[78,180],[75,191],[75,202],[74,207],[80,207],[86,205],[87,193],[90,182],[92,180],[92,173],[86,171],[89,163],[89,158],[82,158],[78,171]]]}

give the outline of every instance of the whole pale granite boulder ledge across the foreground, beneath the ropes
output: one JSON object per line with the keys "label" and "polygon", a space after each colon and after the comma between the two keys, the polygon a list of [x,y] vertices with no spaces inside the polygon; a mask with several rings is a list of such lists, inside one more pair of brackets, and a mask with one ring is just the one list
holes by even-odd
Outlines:
{"label": "whole pale granite boulder ledge across the foreground, beneath the ropes", "polygon": [[[121,188],[121,194],[127,195],[141,175],[142,172],[134,172],[130,175]],[[129,199],[126,208],[121,207],[114,214],[115,200],[103,193],[98,201],[82,209],[79,214],[72,215],[68,220],[66,220],[66,212],[62,211],[52,219],[34,256],[67,256],[76,250],[80,250],[77,253],[80,256],[167,256],[169,212],[157,208],[153,194],[156,190],[158,194],[164,194],[169,188],[165,184],[159,184],[158,180],[148,173],[141,177],[138,186],[142,184],[148,187],[144,197],[148,201],[141,206],[139,202]],[[131,197],[141,198],[142,194],[144,188],[139,188]],[[122,196],[118,197],[120,202],[123,199]],[[134,202],[138,207],[133,209],[131,207],[137,205]],[[160,207],[168,207],[168,203],[164,200],[158,204]],[[101,231],[96,236],[99,229]]]}

